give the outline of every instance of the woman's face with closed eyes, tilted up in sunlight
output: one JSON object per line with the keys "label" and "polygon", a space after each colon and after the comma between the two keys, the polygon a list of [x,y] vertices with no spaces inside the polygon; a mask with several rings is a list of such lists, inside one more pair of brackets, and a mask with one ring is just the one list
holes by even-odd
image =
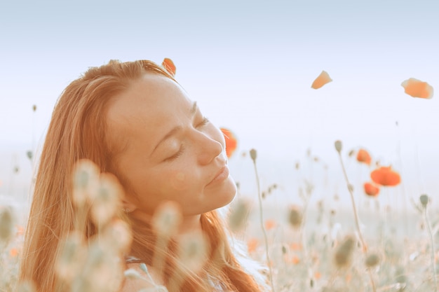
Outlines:
{"label": "woman's face with closed eyes, tilted up in sunlight", "polygon": [[236,194],[224,136],[180,85],[145,74],[114,99],[109,137],[121,146],[116,165],[128,181],[127,200],[152,214],[164,200],[198,215],[228,204]]}

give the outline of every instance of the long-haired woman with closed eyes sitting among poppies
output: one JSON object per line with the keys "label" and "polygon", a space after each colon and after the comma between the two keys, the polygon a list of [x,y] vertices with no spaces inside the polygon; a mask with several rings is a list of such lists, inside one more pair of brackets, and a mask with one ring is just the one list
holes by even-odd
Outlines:
{"label": "long-haired woman with closed eyes sitting among poppies", "polygon": [[[224,136],[203,117],[173,76],[153,62],[110,61],[90,68],[62,93],[41,153],[29,214],[20,279],[37,291],[56,291],[60,238],[74,225],[72,172],[78,160],[114,174],[124,195],[122,209],[133,230],[126,267],[173,291],[262,291],[257,272],[238,260],[236,246],[215,211],[233,200]],[[151,225],[163,202],[180,207],[182,222],[170,244],[158,244]],[[85,235],[96,226],[88,219]],[[193,272],[177,264],[176,242],[201,230],[208,238],[205,264]],[[166,254],[154,267],[154,255]],[[146,270],[146,269],[143,269]],[[180,279],[176,282],[173,279]],[[126,279],[121,291],[139,291],[145,281]],[[57,286],[58,287],[58,286]],[[116,289],[117,290],[117,289]]]}

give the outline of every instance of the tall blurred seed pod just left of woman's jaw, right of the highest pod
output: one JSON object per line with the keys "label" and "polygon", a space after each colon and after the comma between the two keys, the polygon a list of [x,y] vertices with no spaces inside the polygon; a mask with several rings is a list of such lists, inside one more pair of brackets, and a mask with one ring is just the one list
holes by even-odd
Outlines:
{"label": "tall blurred seed pod just left of woman's jaw, right of the highest pod", "polygon": [[113,174],[101,174],[99,186],[93,195],[91,216],[95,223],[105,224],[120,209],[121,193],[123,188]]}

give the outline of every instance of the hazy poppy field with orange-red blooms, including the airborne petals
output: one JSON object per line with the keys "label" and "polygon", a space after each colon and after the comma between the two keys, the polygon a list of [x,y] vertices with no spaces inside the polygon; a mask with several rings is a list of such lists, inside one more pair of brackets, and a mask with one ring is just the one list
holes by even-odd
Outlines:
{"label": "hazy poppy field with orange-red blooms, including the airborne petals", "polygon": [[[175,76],[172,60],[166,58],[162,66]],[[322,71],[311,88],[320,90],[330,82],[330,75]],[[410,98],[433,97],[433,87],[425,81],[407,78],[400,85]],[[343,141],[336,139],[332,151],[337,156],[337,165],[325,165],[311,151],[297,158],[295,177],[298,179],[292,183],[295,191],[291,194],[295,202],[285,203],[279,198],[283,184],[264,180],[257,149],[241,150],[234,129],[221,127],[220,130],[226,141],[232,175],[240,172],[245,175],[239,177],[251,177],[236,179],[236,198],[220,211],[248,255],[266,267],[264,274],[272,291],[438,291],[439,212],[433,200],[435,194],[412,195],[403,209],[393,207],[397,200],[402,200],[398,195],[402,197],[401,186],[405,181],[400,169],[381,164],[367,147],[346,148]],[[32,153],[27,156],[32,160]],[[324,174],[339,173],[344,188],[334,193],[331,181],[301,175],[311,166]],[[329,195],[318,195],[321,190]],[[340,197],[344,198],[343,206]],[[112,207],[97,208],[100,210],[97,216],[109,215],[109,209]],[[7,204],[0,206],[1,292],[33,291],[32,284],[17,281],[26,219],[26,214],[20,211]],[[103,236],[118,243],[116,247],[104,246],[105,253],[128,246],[129,242],[116,240],[121,234],[129,237],[130,231],[123,223],[112,223],[104,232]],[[65,240],[76,244],[74,236]],[[90,249],[93,248],[92,245]],[[93,273],[86,274],[81,263],[72,260],[60,259],[60,277],[68,281],[83,278],[87,280],[84,283],[90,283],[87,277]],[[114,258],[107,260],[108,265],[114,264]],[[83,265],[90,265],[92,271],[97,269],[94,263]],[[134,277],[130,272],[123,274],[116,266],[102,278],[102,285],[108,284],[110,278],[117,279],[114,274],[117,272],[121,277]],[[94,286],[87,287],[83,291],[93,291]],[[159,290],[162,288],[156,291],[163,291]]]}

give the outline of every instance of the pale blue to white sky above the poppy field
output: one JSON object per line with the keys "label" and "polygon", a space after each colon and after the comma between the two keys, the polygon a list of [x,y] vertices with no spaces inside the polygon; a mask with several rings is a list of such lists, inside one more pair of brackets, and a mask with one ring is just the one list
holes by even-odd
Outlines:
{"label": "pale blue to white sky above the poppy field", "polygon": [[[0,194],[28,193],[26,151],[38,153],[56,100],[88,67],[169,57],[205,116],[236,134],[237,153],[257,149],[264,186],[297,197],[315,179],[320,193],[346,192],[340,139],[356,183],[370,169],[347,153],[366,148],[402,175],[389,192],[437,196],[438,97],[401,83],[439,88],[438,27],[439,2],[426,0],[1,1]],[[312,89],[323,70],[332,82]],[[252,193],[248,160],[230,165]]]}

